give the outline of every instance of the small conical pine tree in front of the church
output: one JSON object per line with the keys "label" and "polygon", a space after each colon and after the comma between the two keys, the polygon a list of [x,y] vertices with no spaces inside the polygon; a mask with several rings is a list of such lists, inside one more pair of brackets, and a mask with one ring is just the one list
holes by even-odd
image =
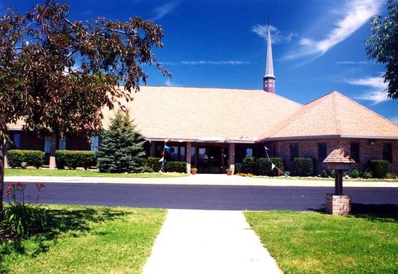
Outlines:
{"label": "small conical pine tree in front of the church", "polygon": [[140,172],[145,158],[145,140],[136,132],[129,113],[119,110],[111,120],[110,129],[101,134],[97,153],[100,172]]}

